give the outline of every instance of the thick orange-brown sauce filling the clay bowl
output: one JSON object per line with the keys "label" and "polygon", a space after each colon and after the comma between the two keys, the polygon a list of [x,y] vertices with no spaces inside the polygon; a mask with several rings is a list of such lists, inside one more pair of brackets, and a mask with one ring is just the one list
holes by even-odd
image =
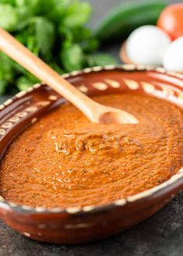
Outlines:
{"label": "thick orange-brown sauce filling the clay bowl", "polygon": [[12,142],[0,195],[29,206],[102,205],[160,185],[182,167],[180,109],[143,95],[94,99],[140,123],[94,124],[71,104],[60,106]]}

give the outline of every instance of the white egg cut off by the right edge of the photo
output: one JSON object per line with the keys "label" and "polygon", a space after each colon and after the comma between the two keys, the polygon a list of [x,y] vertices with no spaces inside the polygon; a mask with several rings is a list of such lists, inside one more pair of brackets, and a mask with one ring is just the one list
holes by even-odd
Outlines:
{"label": "white egg cut off by the right edge of the photo", "polygon": [[167,71],[183,72],[183,36],[174,40],[167,47],[163,60],[164,68]]}

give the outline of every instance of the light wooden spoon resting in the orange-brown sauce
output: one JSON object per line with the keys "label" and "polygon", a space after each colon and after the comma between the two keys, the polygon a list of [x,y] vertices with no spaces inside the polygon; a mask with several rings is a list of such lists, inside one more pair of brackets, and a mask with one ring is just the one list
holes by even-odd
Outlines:
{"label": "light wooden spoon resting in the orange-brown sauce", "polygon": [[[47,43],[47,42],[45,42]],[[102,106],[74,88],[51,67],[32,54],[4,29],[0,28],[0,49],[36,78],[81,110],[93,123],[138,123],[135,116],[123,110]],[[74,56],[73,56],[74,57]]]}

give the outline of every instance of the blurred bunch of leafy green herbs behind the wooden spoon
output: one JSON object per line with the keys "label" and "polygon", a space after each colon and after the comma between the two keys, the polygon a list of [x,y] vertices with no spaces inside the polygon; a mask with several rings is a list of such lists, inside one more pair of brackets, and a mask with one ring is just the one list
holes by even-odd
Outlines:
{"label": "blurred bunch of leafy green herbs behind the wooden spoon", "polygon": [[[0,26],[58,73],[113,64],[95,54],[98,40],[85,25],[91,5],[80,0],[0,0]],[[0,94],[24,90],[37,79],[0,52]]]}

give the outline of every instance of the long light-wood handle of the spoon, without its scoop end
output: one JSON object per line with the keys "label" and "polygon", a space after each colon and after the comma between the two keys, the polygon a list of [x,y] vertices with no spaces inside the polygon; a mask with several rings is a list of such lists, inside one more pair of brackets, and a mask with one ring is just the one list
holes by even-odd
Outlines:
{"label": "long light-wood handle of the spoon, without its scoop end", "polygon": [[62,78],[60,74],[57,74],[56,71],[40,60],[39,57],[36,57],[36,55],[24,47],[22,43],[19,43],[18,40],[2,28],[0,28],[0,50],[19,63],[27,71],[34,74],[40,81],[45,82],[53,88],[54,91],[63,95],[65,99],[80,109],[88,119],[93,121],[92,112],[95,111],[98,103],[88,98],[88,96],[84,95],[77,88],[74,88],[74,86]]}

